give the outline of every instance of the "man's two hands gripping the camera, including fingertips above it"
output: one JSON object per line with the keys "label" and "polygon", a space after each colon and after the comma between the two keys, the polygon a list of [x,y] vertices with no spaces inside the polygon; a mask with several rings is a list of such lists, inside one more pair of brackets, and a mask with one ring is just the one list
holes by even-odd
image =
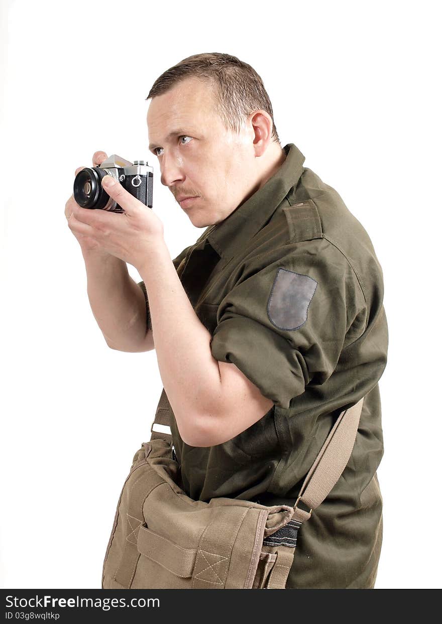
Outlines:
{"label": "man's two hands gripping the camera, including fingertips above it", "polygon": [[[99,162],[107,158],[103,152],[96,152],[96,157]],[[155,245],[164,242],[163,223],[150,208],[130,195],[111,176],[106,175],[101,183],[124,213],[81,208],[72,197],[65,210],[69,228],[82,247],[86,245],[104,255],[120,258],[139,270]]]}

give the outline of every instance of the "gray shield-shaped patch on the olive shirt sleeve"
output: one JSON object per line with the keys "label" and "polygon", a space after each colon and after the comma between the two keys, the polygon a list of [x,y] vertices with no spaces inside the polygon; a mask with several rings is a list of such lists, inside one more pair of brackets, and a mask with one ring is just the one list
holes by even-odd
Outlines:
{"label": "gray shield-shaped patch on the olive shirt sleeve", "polygon": [[293,331],[307,321],[318,282],[308,275],[279,268],[268,298],[267,314],[278,329]]}

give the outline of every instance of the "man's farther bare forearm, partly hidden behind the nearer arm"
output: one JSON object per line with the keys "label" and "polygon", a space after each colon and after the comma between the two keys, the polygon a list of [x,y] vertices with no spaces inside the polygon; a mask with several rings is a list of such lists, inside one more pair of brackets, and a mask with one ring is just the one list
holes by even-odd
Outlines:
{"label": "man's farther bare forearm, partly hidden behind the nearer arm", "polygon": [[110,348],[132,353],[153,349],[152,332],[146,333],[144,294],[126,263],[92,251],[84,251],[83,257],[89,303]]}

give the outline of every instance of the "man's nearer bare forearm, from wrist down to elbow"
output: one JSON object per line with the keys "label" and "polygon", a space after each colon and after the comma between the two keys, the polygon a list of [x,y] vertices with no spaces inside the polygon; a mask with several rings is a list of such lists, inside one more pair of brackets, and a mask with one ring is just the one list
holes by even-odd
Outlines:
{"label": "man's nearer bare forearm, from wrist down to elbow", "polygon": [[187,444],[199,446],[216,417],[210,406],[218,403],[217,397],[222,403],[210,333],[195,314],[164,241],[152,248],[139,273],[149,296],[160,376],[180,436]]}

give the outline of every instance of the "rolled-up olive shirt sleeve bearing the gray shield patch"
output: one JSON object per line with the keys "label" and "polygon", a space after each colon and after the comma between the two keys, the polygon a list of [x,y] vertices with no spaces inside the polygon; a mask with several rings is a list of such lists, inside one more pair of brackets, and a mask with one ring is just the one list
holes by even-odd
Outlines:
{"label": "rolled-up olive shirt sleeve bearing the gray shield patch", "polygon": [[328,241],[306,241],[268,266],[245,267],[220,302],[212,355],[288,409],[307,384],[331,376],[363,306],[345,256]]}

